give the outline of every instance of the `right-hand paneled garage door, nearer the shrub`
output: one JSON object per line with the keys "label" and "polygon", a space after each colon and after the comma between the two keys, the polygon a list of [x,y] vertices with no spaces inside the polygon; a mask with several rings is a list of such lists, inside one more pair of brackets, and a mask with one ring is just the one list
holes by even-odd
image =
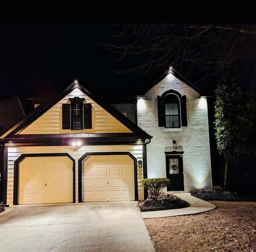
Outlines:
{"label": "right-hand paneled garage door, nearer the shrub", "polygon": [[134,201],[134,161],[130,156],[88,156],[82,172],[83,201]]}

